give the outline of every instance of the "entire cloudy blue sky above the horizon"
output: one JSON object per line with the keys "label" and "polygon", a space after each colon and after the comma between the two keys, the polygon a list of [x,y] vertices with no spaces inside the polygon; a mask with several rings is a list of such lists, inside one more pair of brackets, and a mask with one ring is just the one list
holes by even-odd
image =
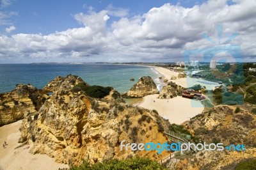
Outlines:
{"label": "entire cloudy blue sky above the horizon", "polygon": [[255,62],[255,9],[256,0],[0,0],[0,63],[175,62],[191,50]]}

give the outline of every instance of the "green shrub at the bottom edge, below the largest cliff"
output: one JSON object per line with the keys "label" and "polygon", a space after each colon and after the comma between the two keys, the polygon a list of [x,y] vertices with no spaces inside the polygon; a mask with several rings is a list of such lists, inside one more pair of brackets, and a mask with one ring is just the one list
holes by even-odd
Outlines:
{"label": "green shrub at the bottom edge, below the largest cliff", "polygon": [[150,160],[149,158],[142,157],[133,157],[127,158],[125,160],[111,159],[104,162],[98,162],[96,164],[91,164],[87,161],[84,161],[81,166],[70,166],[70,170],[110,170],[110,169],[166,169],[161,166],[161,164],[156,161]]}

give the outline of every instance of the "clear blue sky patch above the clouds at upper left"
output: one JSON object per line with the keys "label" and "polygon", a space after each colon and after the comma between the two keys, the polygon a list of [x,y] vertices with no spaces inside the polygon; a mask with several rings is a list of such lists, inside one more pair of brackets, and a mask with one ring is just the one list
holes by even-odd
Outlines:
{"label": "clear blue sky patch above the clouds at upper left", "polygon": [[[31,1],[31,0],[10,0],[10,4],[1,10],[3,12],[17,12],[10,20],[10,25],[15,24],[15,31],[12,33],[42,33],[47,35],[55,31],[64,31],[68,28],[79,27],[80,24],[74,20],[76,13],[86,13],[89,8],[95,12],[100,12],[113,6],[113,8],[124,8],[129,11],[129,15],[141,15],[147,13],[154,7],[162,6],[164,3],[180,4],[185,7],[193,7],[201,4],[202,1]],[[119,17],[111,17],[112,20]],[[1,26],[1,33],[4,34],[6,26]]]}

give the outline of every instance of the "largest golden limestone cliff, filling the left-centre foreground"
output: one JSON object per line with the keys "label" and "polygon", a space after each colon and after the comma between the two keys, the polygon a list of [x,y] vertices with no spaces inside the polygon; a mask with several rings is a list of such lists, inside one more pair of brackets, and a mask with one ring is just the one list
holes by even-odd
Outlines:
{"label": "largest golden limestone cliff, filling the left-centre foreground", "polygon": [[163,134],[168,122],[156,113],[113,100],[116,97],[113,91],[109,93],[111,97],[100,100],[88,97],[83,91],[58,91],[58,88],[54,91],[38,116],[29,116],[22,122],[20,141],[33,143],[30,153],[47,154],[65,164],[132,155],[159,160],[169,154],[166,151],[161,155],[156,151],[120,151],[122,140],[127,143],[168,141]]}

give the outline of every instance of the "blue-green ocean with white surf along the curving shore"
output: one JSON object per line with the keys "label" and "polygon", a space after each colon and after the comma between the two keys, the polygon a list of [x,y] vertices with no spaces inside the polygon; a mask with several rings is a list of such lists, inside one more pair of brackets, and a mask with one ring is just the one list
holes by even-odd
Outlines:
{"label": "blue-green ocean with white surf along the curving shore", "polygon": [[[124,93],[135,84],[141,76],[150,76],[160,89],[163,83],[154,68],[139,65],[112,64],[8,64],[0,65],[0,93],[15,89],[16,84],[32,84],[42,89],[58,75],[78,75],[90,85],[111,86]],[[131,78],[135,81],[130,81]]]}

